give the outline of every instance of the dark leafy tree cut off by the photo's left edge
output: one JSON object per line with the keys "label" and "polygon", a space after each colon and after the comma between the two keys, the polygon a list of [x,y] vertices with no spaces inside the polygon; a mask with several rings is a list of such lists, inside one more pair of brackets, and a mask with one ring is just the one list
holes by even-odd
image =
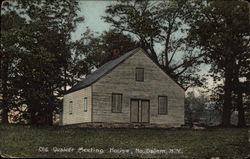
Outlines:
{"label": "dark leafy tree cut off by the photo's left edge", "polygon": [[[1,19],[1,94],[2,94],[2,122],[8,123],[8,114],[13,107],[16,107],[15,100],[17,90],[13,88],[13,74],[16,71],[15,65],[18,61],[18,41],[16,37],[21,32],[25,19],[16,12],[11,11],[10,6],[2,8]],[[16,102],[14,102],[16,101]]]}

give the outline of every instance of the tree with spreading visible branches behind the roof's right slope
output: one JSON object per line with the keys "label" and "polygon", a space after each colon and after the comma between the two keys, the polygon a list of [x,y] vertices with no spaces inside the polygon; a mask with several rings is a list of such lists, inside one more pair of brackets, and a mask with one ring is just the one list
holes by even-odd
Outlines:
{"label": "tree with spreading visible branches behind the roof's right slope", "polygon": [[190,7],[185,0],[120,1],[108,6],[103,18],[119,32],[135,37],[149,56],[187,89],[201,84],[196,74],[201,55],[195,46],[185,44],[189,28],[184,19]]}

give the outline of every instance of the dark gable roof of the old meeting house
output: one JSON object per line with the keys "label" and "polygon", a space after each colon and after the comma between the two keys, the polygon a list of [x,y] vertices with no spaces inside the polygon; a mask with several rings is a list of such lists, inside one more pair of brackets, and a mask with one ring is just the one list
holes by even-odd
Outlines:
{"label": "dark gable roof of the old meeting house", "polygon": [[[100,68],[98,68],[96,71],[94,71],[93,73],[91,73],[90,75],[86,76],[86,78],[77,83],[76,85],[74,85],[71,89],[69,89],[68,91],[66,91],[65,94],[69,94],[71,92],[75,92],[78,91],[80,89],[86,88],[88,86],[90,86],[91,84],[95,83],[98,79],[100,79],[102,76],[104,76],[105,74],[107,74],[108,72],[112,71],[116,66],[118,66],[120,63],[122,63],[123,61],[125,61],[127,58],[129,58],[130,56],[132,56],[133,54],[135,54],[136,52],[138,52],[139,50],[142,50],[146,55],[147,53],[142,49],[142,48],[136,48],[134,50],[131,50],[127,53],[125,53],[124,55],[111,60],[109,62],[107,62],[106,64],[102,65]],[[148,56],[148,55],[147,55]],[[149,56],[148,56],[149,57]],[[150,57],[149,57],[150,58]],[[151,59],[151,58],[150,58]],[[152,59],[151,59],[152,60]],[[152,60],[153,61],[153,60]],[[153,61],[154,62],[154,61]],[[155,62],[154,62],[155,63]],[[160,69],[162,69],[157,63],[155,63]],[[162,69],[163,72],[165,72]],[[166,73],[166,72],[165,72]],[[166,73],[167,74],[167,73]],[[167,74],[168,75],[168,74]],[[169,76],[169,75],[168,75]],[[170,77],[171,78],[171,77]],[[175,81],[175,80],[173,80]],[[175,81],[176,82],[176,81]],[[177,82],[176,82],[177,83]],[[182,89],[183,87],[177,83]]]}

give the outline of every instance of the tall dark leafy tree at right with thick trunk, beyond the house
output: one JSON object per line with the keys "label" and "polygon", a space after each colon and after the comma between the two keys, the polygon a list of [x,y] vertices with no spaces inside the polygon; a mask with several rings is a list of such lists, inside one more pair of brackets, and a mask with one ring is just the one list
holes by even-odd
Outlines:
{"label": "tall dark leafy tree at right with thick trunk, beyond the house", "polygon": [[218,73],[219,78],[224,78],[222,125],[227,127],[230,125],[233,92],[241,98],[240,91],[235,90],[239,82],[234,81],[243,75],[239,71],[245,67],[243,63],[249,50],[249,5],[238,0],[207,0],[196,1],[194,6],[189,40],[201,47],[205,62],[212,65],[214,78],[218,78]]}

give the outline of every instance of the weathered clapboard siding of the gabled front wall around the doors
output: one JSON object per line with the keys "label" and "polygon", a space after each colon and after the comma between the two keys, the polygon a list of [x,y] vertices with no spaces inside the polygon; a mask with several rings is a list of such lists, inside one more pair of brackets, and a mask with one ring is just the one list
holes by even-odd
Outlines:
{"label": "weathered clapboard siding of the gabled front wall around the doors", "polygon": [[[136,68],[144,68],[144,82],[135,80]],[[150,123],[184,123],[184,90],[142,50],[126,59],[93,85],[93,122],[130,122],[130,99],[150,100]],[[122,113],[111,112],[112,93],[122,93]],[[158,96],[168,96],[168,115],[158,114]]]}

